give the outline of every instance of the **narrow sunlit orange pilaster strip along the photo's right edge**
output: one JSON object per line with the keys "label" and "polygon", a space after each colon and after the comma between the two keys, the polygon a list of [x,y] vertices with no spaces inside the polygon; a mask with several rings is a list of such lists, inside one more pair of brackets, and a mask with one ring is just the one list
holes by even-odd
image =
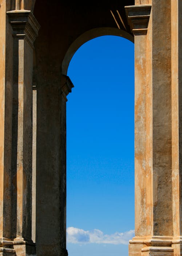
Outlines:
{"label": "narrow sunlit orange pilaster strip along the photo's right edge", "polygon": [[173,248],[182,255],[182,1],[171,0]]}

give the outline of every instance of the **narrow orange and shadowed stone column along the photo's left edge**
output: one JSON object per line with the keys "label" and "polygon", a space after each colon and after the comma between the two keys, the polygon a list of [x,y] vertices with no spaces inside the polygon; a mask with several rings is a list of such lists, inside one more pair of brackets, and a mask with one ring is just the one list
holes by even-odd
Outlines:
{"label": "narrow orange and shadowed stone column along the photo's left edge", "polygon": [[0,1],[0,256],[15,255],[11,241],[12,43],[6,1]]}

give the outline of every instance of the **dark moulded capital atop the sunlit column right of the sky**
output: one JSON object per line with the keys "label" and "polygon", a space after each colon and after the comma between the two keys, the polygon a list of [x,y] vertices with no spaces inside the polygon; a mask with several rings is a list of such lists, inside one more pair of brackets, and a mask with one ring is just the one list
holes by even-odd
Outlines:
{"label": "dark moulded capital atop the sunlit column right of the sky", "polygon": [[125,11],[132,33],[134,35],[146,35],[149,24],[151,5],[140,4],[125,6]]}

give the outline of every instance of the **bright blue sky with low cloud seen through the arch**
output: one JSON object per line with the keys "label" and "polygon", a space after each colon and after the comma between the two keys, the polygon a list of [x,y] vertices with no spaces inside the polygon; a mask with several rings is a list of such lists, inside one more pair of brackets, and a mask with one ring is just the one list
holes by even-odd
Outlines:
{"label": "bright blue sky with low cloud seen through the arch", "polygon": [[94,38],[76,51],[68,76],[68,254],[126,256],[134,236],[134,44]]}

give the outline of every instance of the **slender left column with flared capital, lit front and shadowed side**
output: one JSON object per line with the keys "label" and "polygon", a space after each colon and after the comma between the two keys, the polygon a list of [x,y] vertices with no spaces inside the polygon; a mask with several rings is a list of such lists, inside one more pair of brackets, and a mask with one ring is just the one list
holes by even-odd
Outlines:
{"label": "slender left column with flared capital, lit front and shadowed side", "polygon": [[32,242],[32,69],[39,24],[31,11],[8,11],[13,30],[11,236],[17,256],[36,255]]}

